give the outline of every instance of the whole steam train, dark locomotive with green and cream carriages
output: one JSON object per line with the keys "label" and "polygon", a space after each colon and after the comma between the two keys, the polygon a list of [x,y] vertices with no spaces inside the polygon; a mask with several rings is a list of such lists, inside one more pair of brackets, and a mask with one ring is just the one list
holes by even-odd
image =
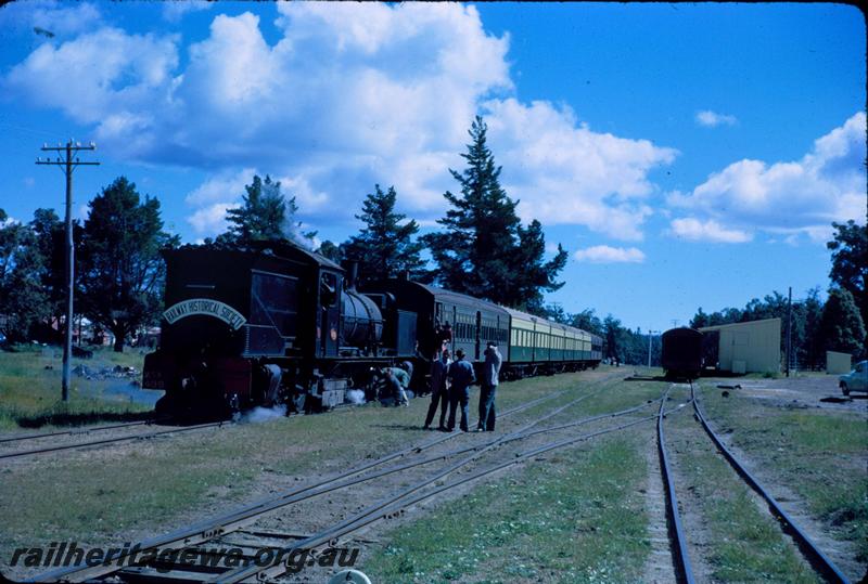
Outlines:
{"label": "whole steam train, dark locomotive with green and cream carriages", "polygon": [[506,348],[507,378],[600,362],[602,339],[585,330],[407,278],[360,290],[354,268],[286,242],[163,256],[167,308],[142,375],[142,387],[165,390],[158,413],[327,410],[379,367],[410,361],[424,371],[448,328],[450,349],[474,366],[487,341]]}

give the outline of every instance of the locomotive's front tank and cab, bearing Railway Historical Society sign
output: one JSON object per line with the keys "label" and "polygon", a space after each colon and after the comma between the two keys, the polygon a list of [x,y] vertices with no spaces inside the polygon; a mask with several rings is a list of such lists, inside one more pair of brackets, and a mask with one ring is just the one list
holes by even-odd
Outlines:
{"label": "locomotive's front tank and cab, bearing Railway Historical Society sign", "polygon": [[186,246],[163,257],[166,310],[143,371],[143,387],[166,391],[158,411],[226,416],[269,405],[302,375],[283,365],[337,355],[340,265],[292,245]]}

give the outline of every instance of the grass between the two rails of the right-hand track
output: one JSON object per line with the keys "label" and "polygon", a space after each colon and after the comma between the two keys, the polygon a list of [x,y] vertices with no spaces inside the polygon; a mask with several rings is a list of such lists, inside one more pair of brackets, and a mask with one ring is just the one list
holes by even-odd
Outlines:
{"label": "grass between the two rails of the right-hand track", "polygon": [[[676,468],[690,485],[691,507],[703,518],[712,545],[704,547],[712,579],[719,582],[818,582],[775,519],[751,498],[749,488],[719,456],[689,415],[668,416],[667,442],[692,436],[678,449]],[[684,432],[689,432],[685,434]],[[671,449],[674,446],[669,446]],[[685,498],[684,495],[681,498]],[[684,501],[684,505],[687,505]]]}

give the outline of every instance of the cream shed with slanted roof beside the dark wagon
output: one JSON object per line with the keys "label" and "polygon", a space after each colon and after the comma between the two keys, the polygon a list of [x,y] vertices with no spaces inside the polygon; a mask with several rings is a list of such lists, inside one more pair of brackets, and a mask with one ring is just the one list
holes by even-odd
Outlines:
{"label": "cream shed with slanted roof beside the dark wagon", "polygon": [[[717,369],[731,373],[779,373],[780,319],[706,326],[699,330],[712,349],[717,346]],[[717,342],[714,342],[715,337]],[[711,365],[713,363],[707,363]]]}

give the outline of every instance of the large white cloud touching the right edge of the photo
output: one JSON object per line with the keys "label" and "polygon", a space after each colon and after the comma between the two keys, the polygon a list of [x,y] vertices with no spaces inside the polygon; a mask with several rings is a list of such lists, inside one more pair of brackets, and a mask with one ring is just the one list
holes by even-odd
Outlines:
{"label": "large white cloud touching the right edge of the photo", "polygon": [[724,231],[822,241],[832,221],[865,220],[865,135],[866,115],[859,112],[797,161],[739,160],[667,200]]}

